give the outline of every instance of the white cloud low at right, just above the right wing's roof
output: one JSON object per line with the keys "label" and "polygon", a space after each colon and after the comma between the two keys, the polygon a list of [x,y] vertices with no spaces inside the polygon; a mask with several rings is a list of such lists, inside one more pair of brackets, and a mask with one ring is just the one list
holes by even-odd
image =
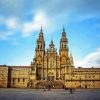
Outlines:
{"label": "white cloud low at right, just above the right wing's roof", "polygon": [[83,60],[75,61],[75,66],[100,67],[100,48],[88,54]]}

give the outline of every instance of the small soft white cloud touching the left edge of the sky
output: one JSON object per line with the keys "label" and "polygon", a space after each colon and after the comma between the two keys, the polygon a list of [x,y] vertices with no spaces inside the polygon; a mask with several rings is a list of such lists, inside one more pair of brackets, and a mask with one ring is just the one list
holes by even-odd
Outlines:
{"label": "small soft white cloud touching the left edge of the sky", "polygon": [[20,24],[17,18],[0,17],[0,39],[7,40],[8,37],[16,34],[16,30],[20,29]]}

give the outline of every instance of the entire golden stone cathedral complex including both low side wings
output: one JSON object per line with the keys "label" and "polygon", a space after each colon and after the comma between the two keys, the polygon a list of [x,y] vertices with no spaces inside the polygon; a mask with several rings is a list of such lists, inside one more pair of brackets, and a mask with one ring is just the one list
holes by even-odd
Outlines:
{"label": "entire golden stone cathedral complex including both low side wings", "polygon": [[100,88],[100,68],[74,67],[65,29],[59,53],[51,40],[45,49],[42,27],[36,40],[35,56],[29,66],[0,65],[0,87],[5,88]]}

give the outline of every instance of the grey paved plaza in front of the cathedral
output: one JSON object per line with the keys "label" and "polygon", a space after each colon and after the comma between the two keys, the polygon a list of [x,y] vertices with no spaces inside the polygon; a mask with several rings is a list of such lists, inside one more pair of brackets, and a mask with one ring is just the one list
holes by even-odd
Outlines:
{"label": "grey paved plaza in front of the cathedral", "polygon": [[34,90],[0,89],[0,100],[100,100],[100,89]]}

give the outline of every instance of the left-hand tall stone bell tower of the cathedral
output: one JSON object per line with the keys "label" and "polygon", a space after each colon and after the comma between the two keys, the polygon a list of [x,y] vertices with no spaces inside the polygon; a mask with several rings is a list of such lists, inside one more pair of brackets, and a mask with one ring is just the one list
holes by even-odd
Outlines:
{"label": "left-hand tall stone bell tower of the cathedral", "polygon": [[44,55],[45,55],[45,41],[43,36],[42,26],[39,37],[36,41],[36,75],[37,79],[43,79]]}

